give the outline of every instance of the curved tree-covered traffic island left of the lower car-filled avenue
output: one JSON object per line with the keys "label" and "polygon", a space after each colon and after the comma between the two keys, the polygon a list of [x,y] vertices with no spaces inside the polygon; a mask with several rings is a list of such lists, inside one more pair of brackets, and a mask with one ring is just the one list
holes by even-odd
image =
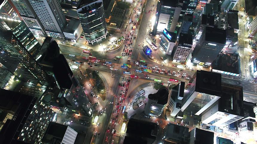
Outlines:
{"label": "curved tree-covered traffic island left of the lower car-filled avenue", "polygon": [[104,101],[106,99],[106,89],[102,78],[98,75],[98,72],[92,71],[91,69],[86,69],[86,72],[89,75],[90,81],[93,83],[93,86],[95,86],[95,89],[97,90],[99,96]]}

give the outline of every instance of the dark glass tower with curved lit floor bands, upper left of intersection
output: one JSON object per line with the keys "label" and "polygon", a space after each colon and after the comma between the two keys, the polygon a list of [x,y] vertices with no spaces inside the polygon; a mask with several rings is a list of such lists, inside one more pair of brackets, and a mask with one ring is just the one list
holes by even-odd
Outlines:
{"label": "dark glass tower with curved lit floor bands, upper left of intersection", "polygon": [[77,13],[85,38],[89,44],[102,41],[107,36],[103,0],[82,5]]}

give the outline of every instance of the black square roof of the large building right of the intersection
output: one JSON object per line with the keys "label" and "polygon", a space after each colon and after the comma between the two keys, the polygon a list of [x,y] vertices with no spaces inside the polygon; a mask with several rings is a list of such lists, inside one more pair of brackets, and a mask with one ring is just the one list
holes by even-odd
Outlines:
{"label": "black square roof of the large building right of the intersection", "polygon": [[195,91],[209,95],[221,95],[221,74],[198,70],[196,72]]}

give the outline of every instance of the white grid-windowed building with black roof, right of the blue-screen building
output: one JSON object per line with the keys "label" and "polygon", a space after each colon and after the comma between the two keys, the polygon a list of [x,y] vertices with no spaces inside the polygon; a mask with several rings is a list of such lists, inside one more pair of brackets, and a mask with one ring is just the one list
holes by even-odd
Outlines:
{"label": "white grid-windowed building with black roof, right of the blue-screen building", "polygon": [[180,33],[178,47],[174,53],[173,61],[185,62],[192,48],[193,37],[189,34]]}

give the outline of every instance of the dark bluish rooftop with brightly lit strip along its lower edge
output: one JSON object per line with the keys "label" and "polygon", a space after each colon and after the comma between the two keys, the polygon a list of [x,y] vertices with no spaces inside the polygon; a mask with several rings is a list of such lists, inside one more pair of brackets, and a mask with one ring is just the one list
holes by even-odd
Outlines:
{"label": "dark bluish rooftop with brightly lit strip along its lower edge", "polygon": [[212,69],[240,74],[240,59],[238,53],[226,52],[212,62]]}

